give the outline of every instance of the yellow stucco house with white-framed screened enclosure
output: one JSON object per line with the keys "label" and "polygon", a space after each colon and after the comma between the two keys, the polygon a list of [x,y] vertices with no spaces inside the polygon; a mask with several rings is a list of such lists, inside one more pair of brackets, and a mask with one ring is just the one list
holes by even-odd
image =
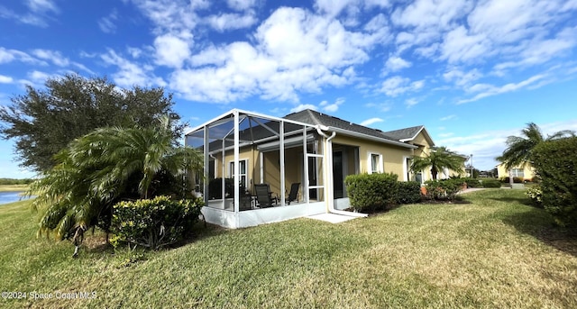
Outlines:
{"label": "yellow stucco house with white-framed screened enclosure", "polygon": [[[435,145],[424,126],[382,132],[313,110],[279,118],[238,109],[192,129],[185,143],[204,153],[206,221],[229,228],[323,213],[365,216],[342,211],[349,207],[344,177],[392,172],[424,182],[430,171],[411,173],[411,158]],[[225,192],[225,178],[238,186]],[[272,207],[259,200],[260,184],[278,195]]]}

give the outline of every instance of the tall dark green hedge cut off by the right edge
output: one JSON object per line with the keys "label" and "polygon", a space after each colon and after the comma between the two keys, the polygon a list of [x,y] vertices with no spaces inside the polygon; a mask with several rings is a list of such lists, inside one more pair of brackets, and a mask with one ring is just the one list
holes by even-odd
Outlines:
{"label": "tall dark green hedge cut off by the right edge", "polygon": [[577,137],[545,141],[533,150],[545,211],[562,226],[577,225]]}

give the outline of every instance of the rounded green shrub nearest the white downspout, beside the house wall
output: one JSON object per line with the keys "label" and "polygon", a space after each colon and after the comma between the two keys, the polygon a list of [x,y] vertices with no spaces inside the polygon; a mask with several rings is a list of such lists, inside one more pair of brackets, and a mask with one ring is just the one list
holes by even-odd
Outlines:
{"label": "rounded green shrub nearest the white downspout, beside the house wall", "polygon": [[392,173],[349,175],[344,184],[357,211],[386,209],[398,200],[397,175]]}

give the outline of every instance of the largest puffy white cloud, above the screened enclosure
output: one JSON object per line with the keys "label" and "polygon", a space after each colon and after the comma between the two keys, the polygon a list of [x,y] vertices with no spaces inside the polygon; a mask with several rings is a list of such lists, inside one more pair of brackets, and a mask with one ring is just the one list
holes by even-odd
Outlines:
{"label": "largest puffy white cloud, above the screened enclosure", "polygon": [[190,100],[231,102],[250,95],[298,102],[355,78],[381,32],[349,32],[343,24],[301,8],[281,7],[258,27],[252,43],[208,46],[191,68],[174,71],[170,86]]}

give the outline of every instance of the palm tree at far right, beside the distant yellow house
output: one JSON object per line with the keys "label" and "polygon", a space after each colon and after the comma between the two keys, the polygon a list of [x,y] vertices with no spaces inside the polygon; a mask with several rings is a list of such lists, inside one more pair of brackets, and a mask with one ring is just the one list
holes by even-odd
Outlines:
{"label": "palm tree at far right, beside the distant yellow house", "polygon": [[[532,161],[531,154],[536,145],[543,141],[561,139],[568,136],[574,136],[575,132],[563,130],[548,135],[546,138],[541,129],[535,123],[527,123],[527,128],[521,131],[521,136],[511,135],[507,138],[507,149],[503,154],[497,157],[497,160],[504,163],[505,168],[510,170],[518,166],[523,166]],[[510,175],[510,173],[509,173]],[[509,177],[512,183],[512,177]]]}

